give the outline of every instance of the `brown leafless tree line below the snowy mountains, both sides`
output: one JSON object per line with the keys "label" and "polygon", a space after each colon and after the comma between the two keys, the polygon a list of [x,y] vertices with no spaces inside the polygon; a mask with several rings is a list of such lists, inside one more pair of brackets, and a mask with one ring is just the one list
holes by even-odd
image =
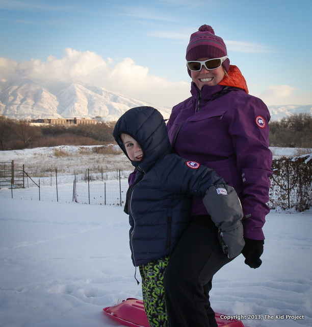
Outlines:
{"label": "brown leafless tree line below the snowy mountains, both sides", "polygon": [[[0,150],[18,150],[59,145],[105,145],[113,143],[116,122],[94,125],[34,125],[26,120],[0,115]],[[312,115],[294,114],[270,126],[270,146],[312,148]]]}

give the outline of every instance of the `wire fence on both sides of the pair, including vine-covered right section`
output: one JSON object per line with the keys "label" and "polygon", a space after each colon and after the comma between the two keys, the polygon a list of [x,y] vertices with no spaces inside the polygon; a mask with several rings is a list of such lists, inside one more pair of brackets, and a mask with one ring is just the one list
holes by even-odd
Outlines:
{"label": "wire fence on both sides of the pair, including vine-covered right section", "polygon": [[[271,209],[295,208],[302,212],[312,207],[312,156],[282,157],[273,160],[270,188]],[[6,169],[8,167],[6,166]],[[0,196],[24,200],[77,202],[123,206],[131,171],[101,172],[84,175],[59,176],[57,170],[50,177],[32,178],[23,171],[23,181],[5,176],[0,180]],[[20,174],[20,171],[18,171]],[[1,175],[1,173],[0,173]],[[1,176],[0,176],[1,177]],[[0,178],[1,179],[1,178]],[[8,182],[11,180],[11,183]],[[23,186],[21,186],[23,185]]]}

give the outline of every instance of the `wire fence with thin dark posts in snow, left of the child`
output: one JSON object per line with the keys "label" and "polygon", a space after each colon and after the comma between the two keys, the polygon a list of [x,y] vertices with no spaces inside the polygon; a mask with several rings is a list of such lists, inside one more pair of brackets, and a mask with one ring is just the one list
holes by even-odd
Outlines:
{"label": "wire fence with thin dark posts in snow, left of the child", "polygon": [[24,187],[11,184],[2,186],[1,197],[23,200],[77,202],[102,205],[124,205],[128,189],[129,171],[105,172],[84,175],[58,176],[57,170],[50,177],[32,178],[24,172]]}

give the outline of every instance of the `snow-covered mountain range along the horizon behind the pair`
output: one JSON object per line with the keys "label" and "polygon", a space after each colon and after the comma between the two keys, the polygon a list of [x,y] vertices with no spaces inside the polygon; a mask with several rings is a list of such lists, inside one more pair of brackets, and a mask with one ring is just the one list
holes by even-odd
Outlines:
{"label": "snow-covered mountain range along the horizon behind the pair", "polygon": [[[75,80],[0,80],[0,114],[15,119],[87,118],[116,121],[126,110],[152,106],[169,118],[171,108],[129,98]],[[312,105],[269,106],[271,120],[297,113],[312,114]]]}

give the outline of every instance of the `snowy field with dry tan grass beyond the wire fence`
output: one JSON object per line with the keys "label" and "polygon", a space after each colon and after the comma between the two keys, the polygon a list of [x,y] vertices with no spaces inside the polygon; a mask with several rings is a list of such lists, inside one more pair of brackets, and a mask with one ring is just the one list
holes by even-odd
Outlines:
{"label": "snowy field with dry tan grass beyond the wire fence", "polygon": [[[14,160],[15,166],[22,167],[32,177],[49,177],[57,168],[61,176],[84,174],[86,169],[100,172],[132,170],[131,163],[121,154],[105,155],[95,153],[98,146],[58,146],[24,150],[0,151],[0,161]],[[270,148],[273,158],[281,156],[299,156],[310,153],[312,149]],[[120,151],[119,151],[120,152]],[[72,177],[70,177],[72,181]]]}

